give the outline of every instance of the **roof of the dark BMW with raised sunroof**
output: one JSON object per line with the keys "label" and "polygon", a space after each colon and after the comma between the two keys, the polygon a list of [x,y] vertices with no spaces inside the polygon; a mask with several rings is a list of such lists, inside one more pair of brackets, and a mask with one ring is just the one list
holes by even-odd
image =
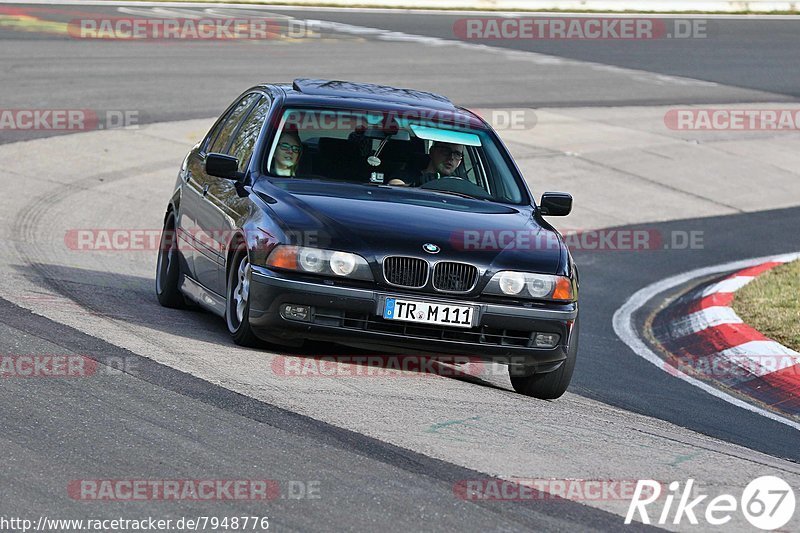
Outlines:
{"label": "roof of the dark BMW with raised sunroof", "polygon": [[313,105],[374,110],[445,113],[464,123],[483,126],[484,122],[468,109],[456,106],[446,96],[389,85],[342,80],[298,78],[292,83],[263,84],[284,95],[285,105]]}

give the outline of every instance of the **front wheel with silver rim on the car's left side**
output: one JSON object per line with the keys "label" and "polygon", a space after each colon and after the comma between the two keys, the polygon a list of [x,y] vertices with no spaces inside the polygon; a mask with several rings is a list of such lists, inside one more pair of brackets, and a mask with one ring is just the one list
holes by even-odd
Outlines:
{"label": "front wheel with silver rim on the car's left side", "polygon": [[240,244],[228,272],[225,322],[233,342],[239,346],[256,347],[261,341],[250,327],[250,278],[247,248]]}

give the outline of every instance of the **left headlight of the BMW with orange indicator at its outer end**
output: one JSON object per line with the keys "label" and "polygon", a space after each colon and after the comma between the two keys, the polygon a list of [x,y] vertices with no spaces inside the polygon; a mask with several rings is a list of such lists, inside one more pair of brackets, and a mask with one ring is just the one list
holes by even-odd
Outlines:
{"label": "left headlight of the BMW with orange indicator at its outer end", "polygon": [[360,255],[306,246],[276,246],[267,257],[266,266],[309,274],[373,280],[367,260]]}

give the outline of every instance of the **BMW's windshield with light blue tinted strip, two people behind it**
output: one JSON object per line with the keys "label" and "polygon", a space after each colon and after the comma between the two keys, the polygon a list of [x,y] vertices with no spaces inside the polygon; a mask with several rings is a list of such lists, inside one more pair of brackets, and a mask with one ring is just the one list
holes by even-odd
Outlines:
{"label": "BMW's windshield with light blue tinted strip, two people behind it", "polygon": [[[267,153],[274,178],[417,188],[522,204],[519,176],[489,132],[455,115],[287,109]],[[460,116],[460,115],[459,115]]]}

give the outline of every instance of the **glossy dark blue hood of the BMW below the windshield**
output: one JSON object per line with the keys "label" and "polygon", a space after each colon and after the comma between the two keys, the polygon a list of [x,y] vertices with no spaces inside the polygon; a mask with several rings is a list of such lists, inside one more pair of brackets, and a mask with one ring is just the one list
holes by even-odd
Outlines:
{"label": "glossy dark blue hood of the BMW below the windshield", "polygon": [[[456,260],[485,269],[557,274],[565,268],[560,236],[529,206],[355,184],[303,183],[270,191],[287,234],[303,242],[381,259],[408,255]],[[431,254],[426,244],[439,248]]]}

